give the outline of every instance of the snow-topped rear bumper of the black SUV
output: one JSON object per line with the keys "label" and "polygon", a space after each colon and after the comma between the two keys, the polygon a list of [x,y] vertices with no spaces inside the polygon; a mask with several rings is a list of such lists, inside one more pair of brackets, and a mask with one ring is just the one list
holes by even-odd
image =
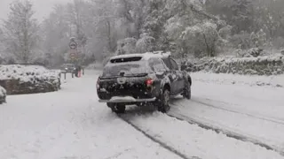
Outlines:
{"label": "snow-topped rear bumper of the black SUV", "polygon": [[156,98],[135,99],[132,96],[114,96],[110,100],[99,100],[99,102],[127,103],[127,102],[154,102]]}

